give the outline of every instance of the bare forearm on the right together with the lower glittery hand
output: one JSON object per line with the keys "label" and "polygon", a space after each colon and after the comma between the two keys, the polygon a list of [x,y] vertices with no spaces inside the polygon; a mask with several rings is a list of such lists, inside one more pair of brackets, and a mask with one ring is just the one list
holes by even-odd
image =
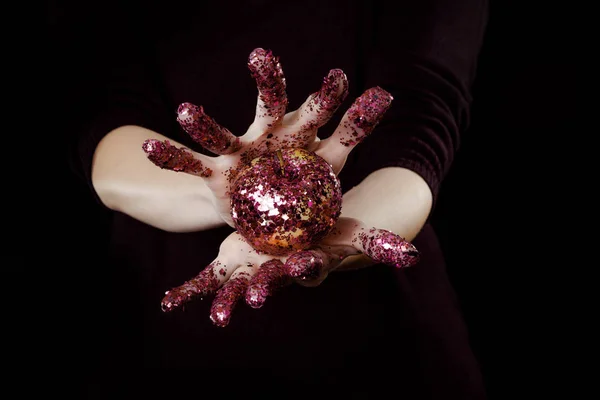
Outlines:
{"label": "bare forearm on the right together with the lower glittery hand", "polygon": [[[392,181],[395,184],[391,185]],[[316,286],[329,271],[375,264],[365,255],[350,255],[358,254],[358,251],[369,252],[369,246],[360,244],[360,232],[369,235],[371,231],[356,229],[356,224],[377,227],[374,236],[385,229],[401,232],[407,239],[412,239],[427,220],[431,204],[431,190],[419,175],[404,168],[381,169],[346,194],[342,210],[346,218],[340,218],[337,226],[341,230],[333,233],[330,241],[326,240],[329,245],[294,252],[289,257],[275,257],[253,251],[248,242],[234,232],[225,239],[219,255],[206,269],[166,293],[163,311],[172,311],[193,298],[216,293],[211,319],[218,326],[226,326],[241,298],[245,298],[251,307],[260,308],[267,297],[290,284],[292,278],[297,278],[302,285]],[[385,246],[393,243],[390,239],[393,238],[387,236],[383,243],[375,243],[379,249],[370,250],[397,256],[389,265],[401,268],[413,264],[414,254],[410,253],[414,247],[396,237],[397,245],[387,250]],[[408,254],[404,256],[405,251]],[[340,258],[343,259],[341,263]],[[403,265],[398,265],[398,261]]]}

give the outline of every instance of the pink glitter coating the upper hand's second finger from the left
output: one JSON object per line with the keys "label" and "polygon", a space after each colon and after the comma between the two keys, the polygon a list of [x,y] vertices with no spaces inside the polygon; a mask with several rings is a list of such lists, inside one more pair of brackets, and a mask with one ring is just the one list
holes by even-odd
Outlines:
{"label": "pink glitter coating the upper hand's second finger from the left", "polygon": [[240,139],[206,115],[201,106],[182,103],[177,121],[196,143],[215,154],[230,154],[241,148]]}

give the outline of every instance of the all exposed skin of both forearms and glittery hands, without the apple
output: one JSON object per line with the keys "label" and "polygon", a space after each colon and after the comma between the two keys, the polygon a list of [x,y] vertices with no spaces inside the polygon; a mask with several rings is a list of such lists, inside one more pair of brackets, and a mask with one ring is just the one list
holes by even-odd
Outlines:
{"label": "all exposed skin of both forearms and glittery hands, without the apple", "polygon": [[[92,170],[94,187],[104,204],[173,232],[233,225],[228,192],[241,163],[270,151],[271,146],[297,147],[314,151],[338,174],[350,151],[372,133],[392,100],[381,88],[369,89],[344,114],[333,135],[319,140],[318,128],[347,94],[345,75],[332,70],[319,92],[286,114],[285,78],[276,58],[257,49],[249,66],[259,96],[255,121],[241,137],[218,125],[201,107],[189,103],[179,107],[182,128],[198,144],[220,154],[218,157],[184,149],[138,126],[120,127],[107,134],[96,149]],[[271,81],[266,82],[265,77]],[[140,151],[142,143],[144,152]],[[249,305],[260,307],[276,289],[292,281],[313,286],[331,271],[375,262],[413,265],[418,256],[409,241],[427,220],[431,203],[431,191],[416,173],[397,167],[375,171],[346,192],[338,224],[318,246],[290,257],[273,257],[249,252],[251,247],[234,232],[213,263],[167,292],[163,309],[170,311],[197,295],[216,294],[211,319],[225,326],[239,299],[245,297]],[[361,242],[360,237],[371,238],[373,243],[374,238],[384,238],[378,241],[380,245],[387,243],[396,253],[378,258],[383,254],[381,248],[367,245],[366,239]]]}

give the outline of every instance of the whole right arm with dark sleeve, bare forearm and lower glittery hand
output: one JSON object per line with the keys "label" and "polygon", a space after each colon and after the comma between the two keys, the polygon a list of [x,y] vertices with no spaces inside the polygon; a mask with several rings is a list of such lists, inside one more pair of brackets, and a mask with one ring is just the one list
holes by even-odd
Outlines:
{"label": "whole right arm with dark sleeve, bare forearm and lower glittery hand", "polygon": [[[377,134],[354,154],[351,167],[342,171],[343,181],[353,187],[343,199],[345,218],[321,244],[285,260],[257,256],[237,233],[232,234],[209,267],[167,292],[165,311],[192,297],[216,293],[211,318],[225,326],[242,297],[258,308],[291,278],[314,286],[329,271],[340,269],[340,260],[344,268],[373,264],[359,253],[398,268],[418,262],[418,249],[399,236],[413,239],[428,219],[460,135],[468,127],[470,85],[487,5],[480,0],[374,3],[376,29],[365,29],[366,47],[374,47],[365,52],[363,84],[384,87],[394,97],[395,107]],[[364,110],[367,114],[380,111],[378,97],[373,96],[376,101]],[[362,116],[355,117],[342,118],[339,130],[350,121],[364,123]],[[323,142],[336,143],[332,140],[336,133]],[[323,142],[321,147],[330,149]],[[336,163],[327,161],[339,172]]]}

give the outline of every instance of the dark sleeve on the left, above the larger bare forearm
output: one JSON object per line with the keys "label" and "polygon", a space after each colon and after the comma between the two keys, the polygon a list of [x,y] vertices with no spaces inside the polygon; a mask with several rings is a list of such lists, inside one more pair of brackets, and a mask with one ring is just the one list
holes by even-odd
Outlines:
{"label": "dark sleeve on the left, above the larger bare forearm", "polygon": [[111,1],[97,6],[90,7],[92,12],[70,10],[86,16],[85,25],[75,32],[80,35],[78,50],[85,59],[78,62],[85,76],[77,83],[83,87],[75,91],[78,96],[71,103],[78,125],[70,161],[100,202],[91,184],[91,170],[102,138],[123,125],[167,134],[173,126],[173,111],[160,87],[154,37],[148,18],[140,11],[143,8],[133,2]]}

